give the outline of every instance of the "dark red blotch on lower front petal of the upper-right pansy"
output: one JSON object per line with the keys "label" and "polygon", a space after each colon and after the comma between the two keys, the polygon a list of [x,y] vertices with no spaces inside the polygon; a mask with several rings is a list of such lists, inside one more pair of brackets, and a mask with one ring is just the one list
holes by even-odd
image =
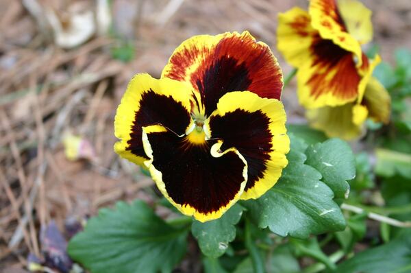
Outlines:
{"label": "dark red blotch on lower front petal of the upper-right pansy", "polygon": [[[332,40],[323,40],[319,36],[310,49],[314,55],[312,67],[316,67],[316,71],[321,71],[314,72],[307,82],[311,87],[311,95],[317,98],[324,93],[332,92],[341,99],[355,97],[361,78],[353,54],[338,47]],[[336,74],[325,80],[332,71],[336,71]]]}

